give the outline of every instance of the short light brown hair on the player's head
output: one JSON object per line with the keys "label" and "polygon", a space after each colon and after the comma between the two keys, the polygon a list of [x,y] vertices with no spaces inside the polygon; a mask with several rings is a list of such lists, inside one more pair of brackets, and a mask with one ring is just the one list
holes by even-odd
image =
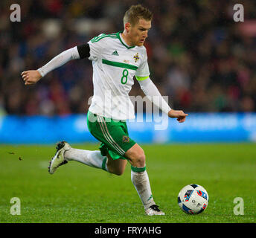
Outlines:
{"label": "short light brown hair on the player's head", "polygon": [[139,19],[152,21],[153,14],[146,7],[141,6],[141,4],[132,5],[124,14],[124,25],[129,22],[134,26],[138,23]]}

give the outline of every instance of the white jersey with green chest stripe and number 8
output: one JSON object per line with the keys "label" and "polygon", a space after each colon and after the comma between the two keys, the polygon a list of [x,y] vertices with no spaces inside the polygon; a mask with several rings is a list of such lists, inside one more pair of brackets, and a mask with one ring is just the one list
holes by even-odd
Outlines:
{"label": "white jersey with green chest stripe and number 8", "polygon": [[133,77],[150,75],[144,46],[129,47],[121,32],[100,34],[89,42],[94,95],[89,111],[117,120],[135,118],[129,91]]}

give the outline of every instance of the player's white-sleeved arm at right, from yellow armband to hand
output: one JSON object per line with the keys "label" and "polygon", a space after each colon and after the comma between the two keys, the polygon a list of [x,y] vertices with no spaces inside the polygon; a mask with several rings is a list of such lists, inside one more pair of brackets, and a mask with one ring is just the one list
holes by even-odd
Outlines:
{"label": "player's white-sleeved arm at right, from yellow armband to hand", "polygon": [[138,80],[138,83],[141,86],[144,94],[147,95],[149,100],[153,102],[159,109],[168,115],[169,118],[177,118],[179,123],[185,121],[188,114],[184,113],[182,110],[173,110],[161,96],[159,89],[156,88],[156,85],[150,80],[150,77],[138,77],[135,76]]}

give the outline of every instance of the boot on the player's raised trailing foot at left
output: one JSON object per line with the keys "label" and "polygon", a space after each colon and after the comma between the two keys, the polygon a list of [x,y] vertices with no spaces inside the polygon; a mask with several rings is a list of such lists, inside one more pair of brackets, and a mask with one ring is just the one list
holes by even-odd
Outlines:
{"label": "boot on the player's raised trailing foot at left", "polygon": [[54,155],[54,158],[50,161],[50,166],[48,167],[48,172],[53,174],[60,165],[67,164],[68,161],[64,158],[64,152],[68,149],[71,149],[71,146],[68,142],[61,141],[57,144],[57,152]]}

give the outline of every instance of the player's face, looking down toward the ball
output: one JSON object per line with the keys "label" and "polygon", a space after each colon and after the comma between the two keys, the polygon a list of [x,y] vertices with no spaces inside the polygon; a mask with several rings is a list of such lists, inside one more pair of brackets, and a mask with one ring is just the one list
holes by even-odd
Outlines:
{"label": "player's face, looking down toward the ball", "polygon": [[151,21],[145,19],[139,19],[138,23],[134,26],[130,26],[129,39],[132,45],[141,46],[147,39],[147,33],[151,28]]}

